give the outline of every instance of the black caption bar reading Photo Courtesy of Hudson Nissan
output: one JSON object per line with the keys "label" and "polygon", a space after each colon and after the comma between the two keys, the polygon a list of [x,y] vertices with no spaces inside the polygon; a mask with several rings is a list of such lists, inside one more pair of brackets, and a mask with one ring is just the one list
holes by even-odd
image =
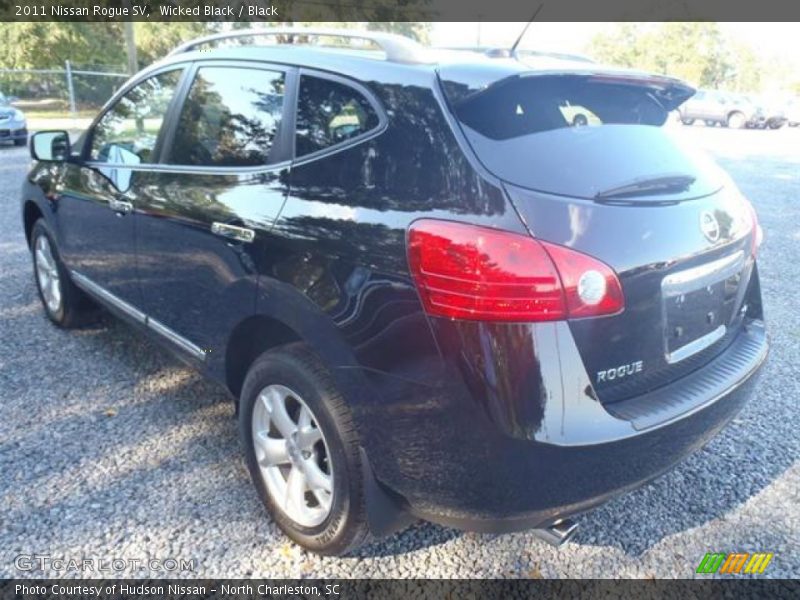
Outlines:
{"label": "black caption bar reading Photo Courtesy of Hudson Nissan", "polygon": [[0,600],[797,598],[797,580],[3,580]]}

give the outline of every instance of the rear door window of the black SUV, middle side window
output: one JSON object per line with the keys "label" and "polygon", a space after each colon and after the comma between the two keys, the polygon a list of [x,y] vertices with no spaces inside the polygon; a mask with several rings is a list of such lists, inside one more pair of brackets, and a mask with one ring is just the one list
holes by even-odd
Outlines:
{"label": "rear door window of the black SUV, middle side window", "polygon": [[181,110],[170,162],[220,167],[270,162],[283,97],[283,73],[201,68]]}

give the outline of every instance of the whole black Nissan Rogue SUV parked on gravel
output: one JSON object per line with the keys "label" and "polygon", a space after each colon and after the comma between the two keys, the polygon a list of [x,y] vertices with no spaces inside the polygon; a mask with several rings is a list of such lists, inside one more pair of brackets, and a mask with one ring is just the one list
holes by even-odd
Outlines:
{"label": "whole black Nissan Rogue SUV parked on gravel", "polygon": [[187,44],[74,146],[36,134],[22,200],[49,318],[100,304],[222,382],[287,535],[559,543],[737,413],[760,228],[661,127],[692,88],[292,31]]}

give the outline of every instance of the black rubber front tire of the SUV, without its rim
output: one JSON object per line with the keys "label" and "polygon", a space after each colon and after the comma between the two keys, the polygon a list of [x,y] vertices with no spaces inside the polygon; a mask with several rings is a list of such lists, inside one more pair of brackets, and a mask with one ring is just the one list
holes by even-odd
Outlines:
{"label": "black rubber front tire of the SUV, without its rim", "polygon": [[[37,276],[38,259],[36,247],[37,241],[41,236],[47,238],[50,251],[55,259],[55,268],[58,270],[61,303],[56,310],[52,310],[48,306],[39,282],[39,277]],[[78,289],[70,279],[69,272],[64,266],[64,263],[61,262],[55,238],[47,228],[44,219],[37,220],[31,229],[31,258],[33,260],[33,279],[36,282],[36,291],[39,293],[39,300],[42,302],[42,307],[47,317],[53,323],[64,329],[73,329],[86,324],[86,322],[90,320],[90,317],[94,316],[96,307],[86,294]]]}

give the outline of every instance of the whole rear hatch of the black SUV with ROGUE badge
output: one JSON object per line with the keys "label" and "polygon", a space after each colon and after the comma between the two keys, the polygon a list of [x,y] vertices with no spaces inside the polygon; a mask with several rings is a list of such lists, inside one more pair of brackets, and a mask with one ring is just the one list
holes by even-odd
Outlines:
{"label": "whole rear hatch of the black SUV with ROGUE badge", "polygon": [[664,385],[727,346],[743,321],[753,216],[730,179],[664,126],[690,87],[573,71],[470,92],[440,76],[469,144],[531,233],[620,278],[622,313],[570,322],[601,401]]}

